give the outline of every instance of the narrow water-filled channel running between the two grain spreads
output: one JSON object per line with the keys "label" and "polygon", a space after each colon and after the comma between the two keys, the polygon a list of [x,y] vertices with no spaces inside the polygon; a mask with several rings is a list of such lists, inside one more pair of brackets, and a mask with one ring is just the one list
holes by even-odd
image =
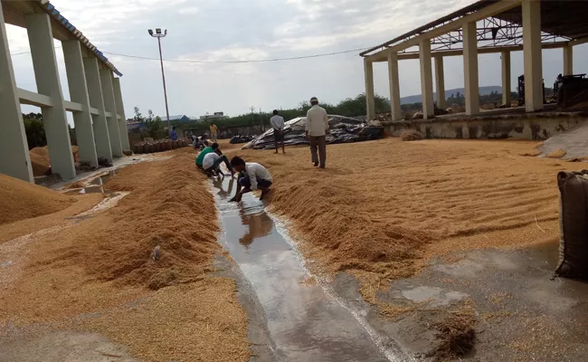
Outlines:
{"label": "narrow water-filled channel running between the two grain spreads", "polygon": [[[316,283],[265,205],[248,194],[229,203],[236,180],[213,180],[223,247],[251,283],[280,361],[397,361],[337,299]],[[314,284],[314,285],[313,285]]]}

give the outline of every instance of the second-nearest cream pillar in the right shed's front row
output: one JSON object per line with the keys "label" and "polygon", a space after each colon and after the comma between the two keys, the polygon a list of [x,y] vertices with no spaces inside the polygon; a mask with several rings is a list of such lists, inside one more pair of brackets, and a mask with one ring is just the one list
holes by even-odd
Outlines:
{"label": "second-nearest cream pillar in the right shed's front row", "polygon": [[478,33],[476,33],[476,22],[463,25],[463,72],[466,93],[466,114],[478,114]]}

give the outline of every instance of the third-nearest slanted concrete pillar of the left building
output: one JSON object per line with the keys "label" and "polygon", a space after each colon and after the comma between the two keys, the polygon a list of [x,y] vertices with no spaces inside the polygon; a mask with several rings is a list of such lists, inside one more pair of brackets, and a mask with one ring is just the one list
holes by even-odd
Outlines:
{"label": "third-nearest slanted concrete pillar of the left building", "polygon": [[90,114],[90,97],[88,96],[84,62],[81,57],[81,43],[77,40],[67,40],[62,41],[62,46],[65,71],[70,87],[70,99],[72,102],[80,103],[83,108],[81,112],[73,112],[80,161],[90,162],[91,167],[98,167],[92,115]]}

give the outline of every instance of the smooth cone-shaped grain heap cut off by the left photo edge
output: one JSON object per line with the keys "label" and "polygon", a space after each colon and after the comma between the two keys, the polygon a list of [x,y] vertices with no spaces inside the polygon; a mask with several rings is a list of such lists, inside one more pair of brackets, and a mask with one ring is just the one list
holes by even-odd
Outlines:
{"label": "smooth cone-shaped grain heap cut off by the left photo edge", "polygon": [[74,201],[43,186],[0,174],[0,224],[56,213]]}

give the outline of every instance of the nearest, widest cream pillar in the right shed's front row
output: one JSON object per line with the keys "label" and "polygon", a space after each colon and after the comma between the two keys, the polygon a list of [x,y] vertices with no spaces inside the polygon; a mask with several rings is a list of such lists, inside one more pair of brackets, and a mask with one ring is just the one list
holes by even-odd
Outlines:
{"label": "nearest, widest cream pillar in the right shed's front row", "polygon": [[543,61],[541,59],[541,2],[524,0],[523,56],[525,58],[525,107],[543,109]]}

